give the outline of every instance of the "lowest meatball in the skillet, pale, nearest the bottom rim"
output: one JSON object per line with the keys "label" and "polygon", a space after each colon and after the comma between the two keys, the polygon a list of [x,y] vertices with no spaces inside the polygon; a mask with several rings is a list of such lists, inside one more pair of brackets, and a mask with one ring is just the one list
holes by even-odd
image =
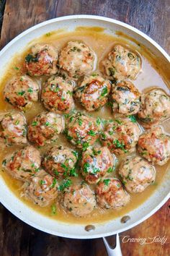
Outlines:
{"label": "lowest meatball in the skillet, pale, nearest the bottom rim", "polygon": [[63,206],[73,216],[84,217],[96,207],[94,192],[88,185],[72,185],[64,192]]}

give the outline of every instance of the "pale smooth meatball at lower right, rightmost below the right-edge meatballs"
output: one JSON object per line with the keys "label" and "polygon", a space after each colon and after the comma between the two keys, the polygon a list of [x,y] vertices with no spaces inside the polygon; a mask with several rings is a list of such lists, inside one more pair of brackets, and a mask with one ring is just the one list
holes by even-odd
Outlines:
{"label": "pale smooth meatball at lower right, rightmost below the right-edge meatballs", "polygon": [[143,192],[156,178],[155,168],[140,156],[125,158],[119,174],[125,188],[131,193]]}

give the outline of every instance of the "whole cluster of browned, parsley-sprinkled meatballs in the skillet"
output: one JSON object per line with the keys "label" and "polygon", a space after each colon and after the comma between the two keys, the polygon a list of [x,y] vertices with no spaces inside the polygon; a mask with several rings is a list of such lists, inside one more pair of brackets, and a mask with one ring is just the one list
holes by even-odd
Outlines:
{"label": "whole cluster of browned, parsley-sprinkled meatballs in the skillet", "polygon": [[[142,68],[139,54],[115,45],[102,60],[102,71],[96,71],[95,63],[97,56],[83,42],[68,42],[60,51],[36,44],[25,56],[25,73],[4,87],[4,100],[17,110],[0,114],[1,142],[24,146],[6,155],[3,169],[24,182],[28,200],[40,207],[60,200],[76,217],[97,207],[119,210],[131,193],[154,182],[153,165],[170,158],[170,137],[159,126],[170,116],[170,98],[161,88],[146,94],[135,88],[132,81]],[[46,80],[40,88],[35,77],[41,76]],[[37,101],[47,111],[27,125],[24,112]],[[84,111],[76,111],[75,101]],[[90,115],[105,104],[112,119]],[[56,142],[41,156],[38,148],[61,133],[73,147]],[[123,159],[117,167],[120,179],[115,178],[117,157]],[[73,182],[77,176],[82,182]]]}

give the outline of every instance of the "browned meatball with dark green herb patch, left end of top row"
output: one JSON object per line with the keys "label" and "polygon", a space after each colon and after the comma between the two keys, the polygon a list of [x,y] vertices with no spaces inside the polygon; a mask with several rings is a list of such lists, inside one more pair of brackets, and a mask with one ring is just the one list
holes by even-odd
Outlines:
{"label": "browned meatball with dark green herb patch, left end of top row", "polygon": [[58,51],[48,44],[35,44],[25,57],[25,67],[31,76],[56,74]]}

